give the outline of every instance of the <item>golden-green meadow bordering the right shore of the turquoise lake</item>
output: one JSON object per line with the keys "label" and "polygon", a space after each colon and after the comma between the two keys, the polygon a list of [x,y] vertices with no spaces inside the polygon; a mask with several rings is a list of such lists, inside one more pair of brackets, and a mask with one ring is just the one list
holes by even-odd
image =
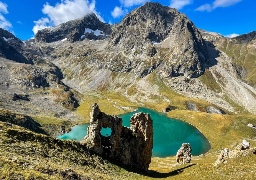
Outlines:
{"label": "golden-green meadow bordering the right shore of the turquoise lake", "polygon": [[252,145],[256,142],[250,137],[255,137],[255,129],[249,128],[248,123],[256,124],[254,115],[223,115],[203,112],[173,110],[167,113],[168,117],[186,121],[207,137],[211,143],[210,153],[219,151],[247,139]]}

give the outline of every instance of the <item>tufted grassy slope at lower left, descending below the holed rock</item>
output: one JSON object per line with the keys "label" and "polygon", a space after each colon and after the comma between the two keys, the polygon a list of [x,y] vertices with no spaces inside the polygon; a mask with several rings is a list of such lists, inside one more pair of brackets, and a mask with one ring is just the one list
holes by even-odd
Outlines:
{"label": "tufted grassy slope at lower left, descending below the holed rock", "polygon": [[[76,141],[39,135],[0,122],[0,179],[115,179],[129,174]],[[73,177],[73,179],[76,179]]]}

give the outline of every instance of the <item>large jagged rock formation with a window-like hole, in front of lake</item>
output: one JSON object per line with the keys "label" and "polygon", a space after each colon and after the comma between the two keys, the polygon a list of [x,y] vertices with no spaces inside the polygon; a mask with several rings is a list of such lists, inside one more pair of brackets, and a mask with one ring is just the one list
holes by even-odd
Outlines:
{"label": "large jagged rock formation with a window-like hole, in front of lake", "polygon": [[[122,126],[122,118],[100,112],[92,105],[90,126],[84,142],[98,154],[147,171],[153,149],[153,122],[148,113],[136,113],[130,119],[131,127]],[[110,128],[111,135],[102,136],[102,128]]]}

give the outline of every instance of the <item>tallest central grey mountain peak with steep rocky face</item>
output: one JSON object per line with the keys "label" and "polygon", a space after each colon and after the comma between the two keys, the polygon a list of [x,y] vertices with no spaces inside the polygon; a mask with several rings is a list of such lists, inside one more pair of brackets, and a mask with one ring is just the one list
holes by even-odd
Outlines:
{"label": "tallest central grey mountain peak with steep rocky face", "polygon": [[[167,38],[172,39],[167,45],[169,50],[158,51],[152,42],[160,43]],[[139,77],[151,73],[164,59],[159,70],[163,77],[196,77],[204,72],[208,58],[205,42],[187,16],[159,3],[148,2],[127,14],[113,28],[109,43],[112,49],[120,48],[125,56],[133,55],[143,61],[143,66],[138,62],[135,66]],[[157,52],[166,56],[160,58]],[[134,68],[132,64],[128,67]]]}

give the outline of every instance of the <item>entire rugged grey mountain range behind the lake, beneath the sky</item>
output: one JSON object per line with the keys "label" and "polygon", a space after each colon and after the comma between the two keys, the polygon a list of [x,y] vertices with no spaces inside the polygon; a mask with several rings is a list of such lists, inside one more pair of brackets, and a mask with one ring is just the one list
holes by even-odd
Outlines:
{"label": "entire rugged grey mountain range behind the lake, beneath the sky", "polygon": [[91,13],[42,29],[35,40],[22,42],[0,29],[0,56],[31,64],[11,68],[14,83],[26,90],[54,89],[55,101],[71,109],[79,96],[62,78],[71,87],[114,91],[136,102],[165,99],[157,84],[164,83],[228,111],[235,112],[235,102],[256,113],[255,34],[226,38],[198,30],[185,14],[148,2],[119,24],[100,22]]}

